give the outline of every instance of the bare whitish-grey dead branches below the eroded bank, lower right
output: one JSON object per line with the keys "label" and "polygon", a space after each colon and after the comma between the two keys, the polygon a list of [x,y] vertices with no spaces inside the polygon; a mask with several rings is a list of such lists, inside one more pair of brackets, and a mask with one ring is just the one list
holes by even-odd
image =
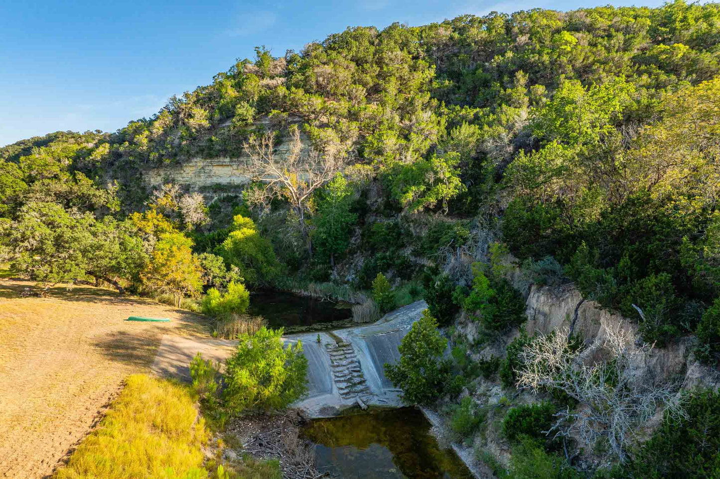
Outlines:
{"label": "bare whitish-grey dead branches below the eroded bank, lower right", "polygon": [[[603,321],[604,339],[585,350],[572,351],[567,328],[540,335],[521,353],[518,386],[541,391],[558,389],[580,402],[576,411],[560,411],[557,422],[546,434],[577,437],[586,444],[606,438],[622,462],[626,446],[637,428],[647,423],[662,406],[676,418],[687,418],[678,383],[657,383],[639,378],[637,367],[644,364],[654,345],[633,346],[630,332]],[[603,357],[588,365],[589,358]]]}

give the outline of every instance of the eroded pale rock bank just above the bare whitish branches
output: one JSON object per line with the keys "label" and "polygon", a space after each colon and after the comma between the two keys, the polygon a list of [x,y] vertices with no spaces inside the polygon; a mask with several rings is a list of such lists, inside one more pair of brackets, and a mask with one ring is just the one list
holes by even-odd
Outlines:
{"label": "eroded pale rock bank just above the bare whitish branches", "polygon": [[[606,327],[618,325],[638,338],[636,344],[642,344],[637,324],[629,321],[615,311],[603,309],[595,301],[583,301],[580,291],[572,286],[557,288],[533,286],[527,300],[528,321],[526,331],[549,334],[554,329],[572,327],[586,342],[602,341],[606,337]],[[694,386],[716,386],[720,383],[718,374],[697,362],[691,354],[693,340],[683,337],[666,347],[656,347],[652,355],[642,364],[635,365],[636,373],[645,380],[683,381],[683,388]]]}

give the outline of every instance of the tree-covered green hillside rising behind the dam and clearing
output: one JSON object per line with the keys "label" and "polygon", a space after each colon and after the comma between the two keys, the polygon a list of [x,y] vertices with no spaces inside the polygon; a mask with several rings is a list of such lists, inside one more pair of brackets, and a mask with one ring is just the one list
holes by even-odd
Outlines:
{"label": "tree-covered green hillside rising behind the dam and clearing", "polygon": [[[637,321],[647,342],[696,334],[714,362],[719,73],[720,4],[682,0],[257,47],[117,132],[1,148],[0,259],[178,305],[216,288],[216,314],[240,283],[374,287],[381,311],[424,296],[441,324],[465,309],[502,331],[524,314],[493,270],[510,257],[528,281],[572,281]],[[281,142],[296,156],[273,173]],[[142,186],[143,168],[241,154],[258,171],[242,196],[206,205]]]}

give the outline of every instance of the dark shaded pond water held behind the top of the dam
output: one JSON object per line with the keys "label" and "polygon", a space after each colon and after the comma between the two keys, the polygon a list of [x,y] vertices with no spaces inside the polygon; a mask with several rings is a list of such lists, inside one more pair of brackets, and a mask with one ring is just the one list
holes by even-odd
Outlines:
{"label": "dark shaded pond water held behind the top of the dam", "polygon": [[278,291],[258,291],[250,296],[248,313],[263,316],[271,328],[285,332],[323,331],[352,325],[352,305],[321,301]]}

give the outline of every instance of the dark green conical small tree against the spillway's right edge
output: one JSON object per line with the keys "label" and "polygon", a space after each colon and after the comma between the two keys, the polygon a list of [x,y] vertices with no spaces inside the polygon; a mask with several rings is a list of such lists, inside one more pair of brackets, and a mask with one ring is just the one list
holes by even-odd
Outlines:
{"label": "dark green conical small tree against the spillway's right edge", "polygon": [[385,375],[402,389],[402,398],[413,404],[429,404],[443,392],[449,378],[449,362],[443,360],[447,339],[437,328],[437,320],[430,311],[413,323],[410,332],[400,343],[400,361],[385,363]]}

